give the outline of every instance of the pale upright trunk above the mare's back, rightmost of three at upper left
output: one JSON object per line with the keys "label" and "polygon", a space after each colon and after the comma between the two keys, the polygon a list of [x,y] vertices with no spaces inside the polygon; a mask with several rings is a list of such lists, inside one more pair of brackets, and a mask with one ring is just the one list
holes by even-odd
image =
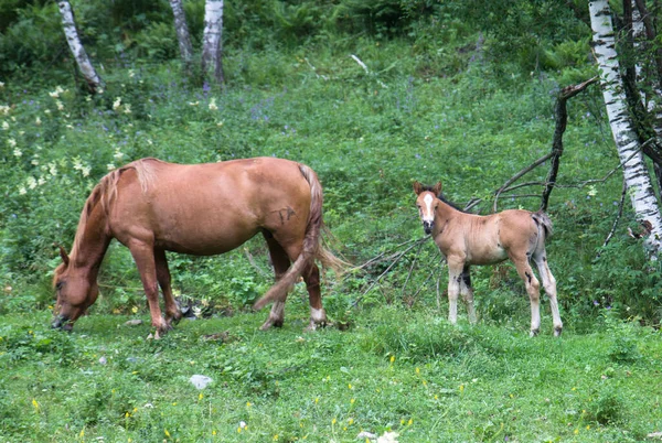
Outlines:
{"label": "pale upright trunk above the mare's back, rightmost of three at upper left", "polygon": [[222,84],[223,61],[223,0],[206,0],[204,4],[204,35],[202,40],[202,73],[205,78]]}

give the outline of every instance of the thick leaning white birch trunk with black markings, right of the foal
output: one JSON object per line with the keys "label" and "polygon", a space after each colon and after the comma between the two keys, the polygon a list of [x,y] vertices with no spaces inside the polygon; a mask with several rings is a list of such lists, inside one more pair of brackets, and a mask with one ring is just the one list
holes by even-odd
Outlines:
{"label": "thick leaning white birch trunk with black markings, right of the foal", "polygon": [[590,24],[594,32],[595,54],[600,67],[602,96],[618,155],[637,219],[649,225],[651,234],[644,246],[651,258],[656,259],[662,240],[662,217],[658,199],[645,166],[641,145],[630,121],[626,94],[620,75],[613,24],[608,0],[590,1]]}

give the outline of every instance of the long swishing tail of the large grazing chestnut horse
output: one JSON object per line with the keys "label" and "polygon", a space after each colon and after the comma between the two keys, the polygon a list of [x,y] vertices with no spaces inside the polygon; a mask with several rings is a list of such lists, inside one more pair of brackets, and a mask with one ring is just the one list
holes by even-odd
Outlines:
{"label": "long swishing tail of the large grazing chestnut horse", "polygon": [[301,253],[295,260],[287,272],[259,299],[253,307],[260,310],[266,304],[274,301],[285,301],[287,293],[297,282],[297,279],[307,271],[308,267],[314,263],[314,259],[319,259],[325,268],[331,268],[337,272],[342,272],[346,263],[335,257],[330,250],[321,245],[320,231],[323,228],[322,220],[322,203],[324,201],[322,194],[322,185],[317,177],[314,171],[305,164],[299,164],[299,171],[310,185],[310,214],[308,216],[308,225],[306,226],[306,236],[303,237],[303,248]]}

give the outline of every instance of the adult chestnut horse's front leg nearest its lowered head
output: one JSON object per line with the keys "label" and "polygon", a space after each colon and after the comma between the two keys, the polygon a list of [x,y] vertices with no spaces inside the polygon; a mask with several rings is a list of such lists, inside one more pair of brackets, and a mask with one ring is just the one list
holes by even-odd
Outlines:
{"label": "adult chestnut horse's front leg nearest its lowered head", "polygon": [[161,316],[161,307],[159,306],[159,283],[157,280],[154,248],[152,245],[147,245],[142,241],[132,241],[128,247],[138,267],[138,272],[140,272],[140,280],[142,280],[142,288],[149,303],[151,323],[157,328],[156,337],[158,338],[159,333],[164,334],[168,332],[170,325]]}

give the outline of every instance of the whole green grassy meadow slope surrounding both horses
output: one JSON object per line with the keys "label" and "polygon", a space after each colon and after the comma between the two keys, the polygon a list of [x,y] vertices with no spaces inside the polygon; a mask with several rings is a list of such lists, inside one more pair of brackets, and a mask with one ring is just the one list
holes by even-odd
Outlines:
{"label": "whole green grassy meadow slope surrounding both horses", "polygon": [[[228,52],[225,88],[188,82],[175,63],[108,67],[94,97],[63,74],[3,83],[0,441],[626,442],[662,430],[660,270],[627,235],[627,204],[602,247],[622,182],[597,90],[570,104],[548,208],[560,338],[545,299],[542,333],[527,337],[510,264],[474,270],[478,325],[461,305],[448,324],[431,241],[386,273],[393,260],[328,272],[334,325],[309,334],[301,284],[285,326],[258,331],[267,312],[249,306],[273,279],[261,239],[223,257],[169,256],[192,314],[160,341],[147,338],[138,273],[113,244],[89,315],[71,334],[50,329],[53,244],[71,247],[94,184],[131,160],[301,161],[324,186],[328,246],[362,264],[423,237],[415,180],[441,180],[460,204],[482,198],[487,214],[493,192],[551,150],[553,76],[504,75],[470,55],[430,62],[397,41],[352,51],[367,72],[339,45]],[[526,180],[544,181],[546,166]],[[499,207],[536,209],[528,194],[542,188],[531,190]],[[213,381],[197,389],[194,375]]]}

